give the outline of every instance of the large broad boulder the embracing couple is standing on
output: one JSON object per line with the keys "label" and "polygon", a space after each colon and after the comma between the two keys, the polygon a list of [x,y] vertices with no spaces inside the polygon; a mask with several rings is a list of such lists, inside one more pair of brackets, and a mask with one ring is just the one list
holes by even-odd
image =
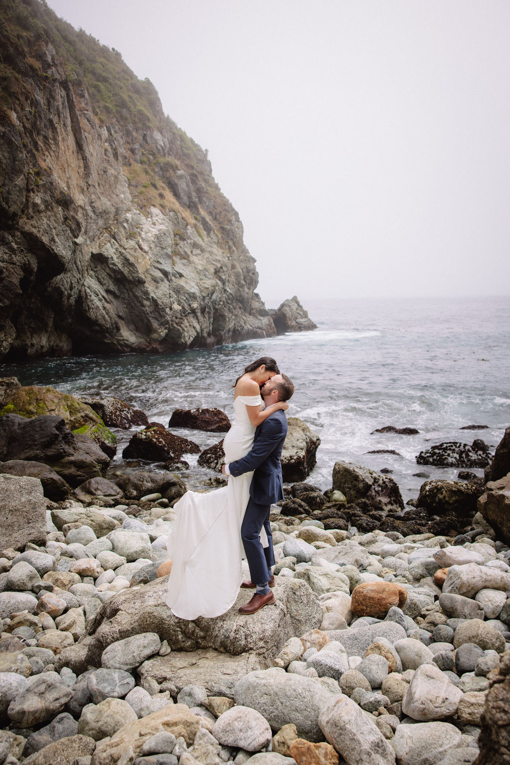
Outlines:
{"label": "large broad boulder the embracing couple is standing on", "polygon": [[90,664],[100,666],[107,646],[142,632],[158,633],[176,651],[213,648],[234,656],[255,653],[271,660],[290,637],[313,630],[322,621],[317,596],[298,579],[277,580],[276,603],[257,614],[246,617],[238,613],[251,594],[242,590],[226,614],[194,621],[172,614],[166,604],[167,584],[167,577],[158,578],[106,601],[96,620],[88,625],[89,634],[94,633],[87,655]]}

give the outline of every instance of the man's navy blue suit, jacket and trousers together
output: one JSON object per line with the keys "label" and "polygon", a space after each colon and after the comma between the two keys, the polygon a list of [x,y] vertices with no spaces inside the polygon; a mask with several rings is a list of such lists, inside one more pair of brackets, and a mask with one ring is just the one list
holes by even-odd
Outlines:
{"label": "man's navy blue suit, jacket and trousers together", "polygon": [[[269,581],[270,568],[274,566],[269,510],[272,503],[284,496],[280,457],[286,436],[287,418],[283,409],[277,409],[256,428],[251,451],[240,460],[229,463],[232,476],[254,470],[250,499],[241,526],[242,544],[254,584]],[[261,545],[262,526],[268,536],[268,547]]]}

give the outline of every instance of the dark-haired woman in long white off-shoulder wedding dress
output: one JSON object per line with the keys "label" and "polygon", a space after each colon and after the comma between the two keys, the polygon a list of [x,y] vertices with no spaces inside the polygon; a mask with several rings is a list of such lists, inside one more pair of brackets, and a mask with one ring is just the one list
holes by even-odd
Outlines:
{"label": "dark-haired woman in long white off-shoulder wedding dress", "polygon": [[[234,424],[223,441],[227,463],[248,454],[257,425],[277,409],[288,409],[284,401],[261,408],[260,386],[276,374],[274,359],[263,356],[236,379]],[[176,617],[218,617],[235,603],[244,557],[240,529],[252,475],[230,476],[226,487],[209,493],[187,491],[175,503],[177,519],[167,542],[172,560],[167,605]]]}

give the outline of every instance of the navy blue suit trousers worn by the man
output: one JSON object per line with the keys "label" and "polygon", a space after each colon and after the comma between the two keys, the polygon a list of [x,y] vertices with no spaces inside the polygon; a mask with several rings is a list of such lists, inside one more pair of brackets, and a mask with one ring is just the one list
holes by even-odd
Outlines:
{"label": "navy blue suit trousers worn by the man", "polygon": [[[269,581],[270,567],[274,566],[273,537],[269,522],[270,509],[271,505],[259,505],[250,497],[245,517],[242,520],[241,539],[253,584],[264,584],[264,582]],[[260,541],[262,526],[268,535],[267,547],[262,547]]]}

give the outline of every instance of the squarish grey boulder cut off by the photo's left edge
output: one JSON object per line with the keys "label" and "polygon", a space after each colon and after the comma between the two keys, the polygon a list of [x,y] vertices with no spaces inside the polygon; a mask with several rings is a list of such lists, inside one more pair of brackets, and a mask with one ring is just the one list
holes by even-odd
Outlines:
{"label": "squarish grey boulder cut off by the photo's left edge", "polygon": [[0,529],[3,548],[44,545],[46,500],[38,478],[0,475]]}

